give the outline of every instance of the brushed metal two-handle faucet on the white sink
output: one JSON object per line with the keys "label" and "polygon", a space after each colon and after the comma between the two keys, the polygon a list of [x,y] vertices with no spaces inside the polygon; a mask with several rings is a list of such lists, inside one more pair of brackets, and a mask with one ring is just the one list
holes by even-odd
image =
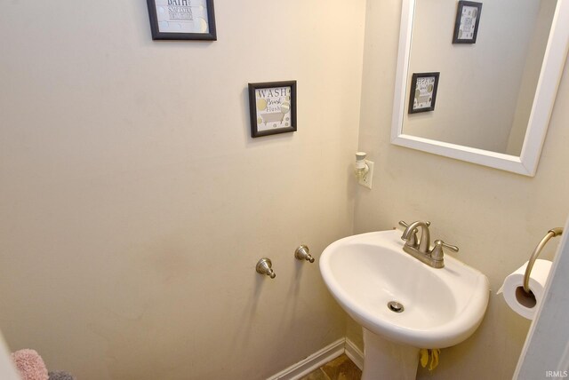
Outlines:
{"label": "brushed metal two-handle faucet on the white sink", "polygon": [[[405,241],[403,250],[433,268],[443,268],[445,266],[443,248],[451,249],[454,252],[459,251],[458,247],[446,244],[445,241],[441,240],[435,241],[435,246],[433,249],[430,249],[429,222],[416,221],[408,225],[401,220],[399,225],[405,227],[405,231],[401,235],[401,240]],[[417,234],[420,227],[421,240],[418,241]]]}

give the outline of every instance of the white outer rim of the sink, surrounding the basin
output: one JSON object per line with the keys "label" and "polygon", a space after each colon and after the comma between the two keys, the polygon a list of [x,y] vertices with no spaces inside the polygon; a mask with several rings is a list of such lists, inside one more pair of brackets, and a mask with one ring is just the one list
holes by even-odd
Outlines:
{"label": "white outer rim of the sink, surrounding the basin", "polygon": [[[336,301],[355,321],[365,327],[365,329],[369,329],[373,333],[384,336],[395,343],[410,344],[420,348],[444,348],[461,343],[474,333],[484,318],[490,290],[487,277],[477,271],[477,269],[449,255],[445,256],[444,268],[431,268],[403,251],[401,234],[401,231],[398,230],[379,231],[352,235],[339,241],[334,241],[324,250],[319,260],[320,273],[322,273],[327,288]],[[346,252],[350,245],[357,243],[377,244],[378,249],[389,249],[391,253],[402,255],[402,257],[408,259],[409,265],[413,265],[414,268],[419,268],[418,270],[421,271],[429,271],[437,278],[445,281],[445,284],[453,292],[453,302],[457,303],[458,313],[453,315],[452,319],[436,327],[410,329],[381,319],[377,313],[372,313],[369,308],[366,309],[365,305],[361,305],[361,302],[354,302],[349,291],[346,291],[344,289],[345,286],[335,278],[332,260],[335,255],[339,254],[339,248],[345,248],[342,252]],[[342,254],[345,255],[347,253]],[[460,278],[462,278],[462,275],[468,277],[468,280],[471,282],[471,289],[469,288],[471,291],[469,293],[460,294],[453,289],[452,284],[453,281],[457,281],[457,274]],[[459,279],[459,281],[462,280]]]}

